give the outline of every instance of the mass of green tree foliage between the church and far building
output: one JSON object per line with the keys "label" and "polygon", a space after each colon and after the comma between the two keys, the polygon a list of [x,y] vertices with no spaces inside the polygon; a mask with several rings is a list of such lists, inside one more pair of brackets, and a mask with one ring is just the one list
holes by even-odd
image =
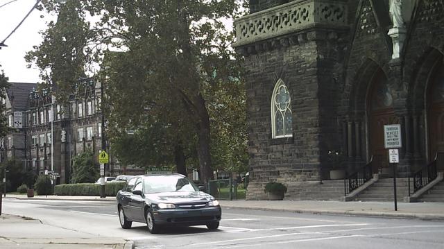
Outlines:
{"label": "mass of green tree foliage between the church and far building", "polygon": [[[158,166],[197,159],[207,182],[212,161],[230,171],[246,168],[244,72],[230,47],[234,32],[223,24],[239,16],[243,2],[44,0],[58,22],[26,60],[58,85],[60,99],[101,64],[109,123],[103,132],[119,160]],[[99,21],[89,24],[88,15]]]}

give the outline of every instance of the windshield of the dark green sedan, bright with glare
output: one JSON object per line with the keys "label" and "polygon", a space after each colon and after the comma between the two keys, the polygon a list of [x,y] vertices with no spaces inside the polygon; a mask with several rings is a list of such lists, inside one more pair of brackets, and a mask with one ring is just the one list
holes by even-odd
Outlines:
{"label": "windshield of the dark green sedan, bright with glare", "polygon": [[165,175],[148,177],[144,179],[144,192],[146,194],[178,191],[199,191],[199,189],[187,178],[178,178]]}

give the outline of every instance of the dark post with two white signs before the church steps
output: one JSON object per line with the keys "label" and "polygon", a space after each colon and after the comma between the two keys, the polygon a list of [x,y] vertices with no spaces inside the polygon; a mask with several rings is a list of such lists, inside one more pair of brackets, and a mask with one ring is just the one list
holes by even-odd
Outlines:
{"label": "dark post with two white signs before the church steps", "polygon": [[384,126],[384,147],[388,149],[388,162],[393,166],[393,197],[395,198],[395,211],[398,211],[398,200],[396,198],[396,164],[400,162],[398,148],[402,147],[401,125]]}

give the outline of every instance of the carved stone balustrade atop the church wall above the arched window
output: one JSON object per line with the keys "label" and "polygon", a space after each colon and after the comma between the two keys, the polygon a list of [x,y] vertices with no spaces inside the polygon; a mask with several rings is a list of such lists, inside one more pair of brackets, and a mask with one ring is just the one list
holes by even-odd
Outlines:
{"label": "carved stone balustrade atop the church wall above the arched window", "polygon": [[347,27],[345,1],[296,0],[234,21],[236,41],[243,46],[314,27]]}

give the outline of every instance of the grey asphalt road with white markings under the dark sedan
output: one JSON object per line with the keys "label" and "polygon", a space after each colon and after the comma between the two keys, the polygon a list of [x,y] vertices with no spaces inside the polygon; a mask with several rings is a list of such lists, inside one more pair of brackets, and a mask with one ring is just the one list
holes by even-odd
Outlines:
{"label": "grey asphalt road with white markings under the dark sedan", "polygon": [[169,227],[123,230],[114,203],[3,200],[3,212],[68,230],[135,241],[135,248],[443,248],[444,222],[223,209],[219,230]]}

